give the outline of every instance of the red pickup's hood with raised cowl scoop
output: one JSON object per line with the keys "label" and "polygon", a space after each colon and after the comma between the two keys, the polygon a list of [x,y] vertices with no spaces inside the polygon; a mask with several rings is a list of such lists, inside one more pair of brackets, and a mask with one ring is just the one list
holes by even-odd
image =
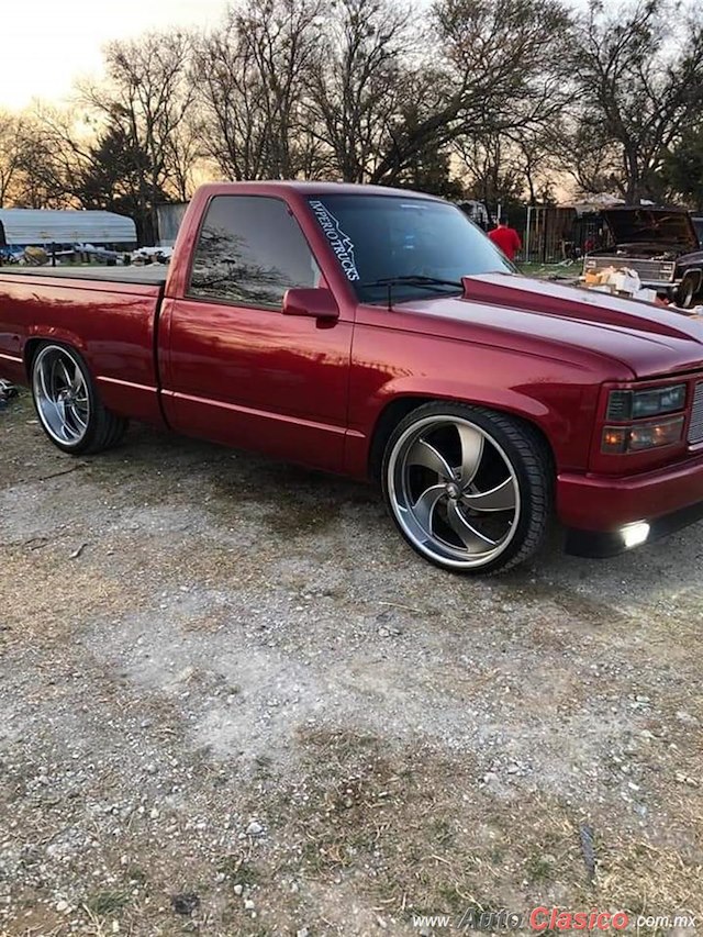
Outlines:
{"label": "red pickup's hood with raised cowl scoop", "polygon": [[[399,309],[471,326],[469,341],[574,362],[609,359],[636,378],[703,370],[703,319],[515,274],[465,277],[462,283],[462,297]],[[439,322],[437,331],[444,331]]]}

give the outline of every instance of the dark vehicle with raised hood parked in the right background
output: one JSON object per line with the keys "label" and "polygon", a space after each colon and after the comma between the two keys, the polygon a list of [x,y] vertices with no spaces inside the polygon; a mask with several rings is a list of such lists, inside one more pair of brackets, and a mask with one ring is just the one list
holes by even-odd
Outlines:
{"label": "dark vehicle with raised hood parked in the right background", "polygon": [[591,250],[583,274],[627,267],[641,286],[690,309],[703,292],[703,220],[685,209],[618,205],[604,209],[613,243]]}

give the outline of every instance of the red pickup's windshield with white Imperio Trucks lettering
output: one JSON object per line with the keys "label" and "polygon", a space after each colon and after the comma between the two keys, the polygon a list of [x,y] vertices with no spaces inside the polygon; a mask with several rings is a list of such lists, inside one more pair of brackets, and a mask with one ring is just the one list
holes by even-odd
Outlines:
{"label": "red pickup's windshield with white Imperio Trucks lettering", "polygon": [[446,202],[401,196],[316,196],[311,211],[361,302],[451,295],[461,277],[514,271],[480,228]]}

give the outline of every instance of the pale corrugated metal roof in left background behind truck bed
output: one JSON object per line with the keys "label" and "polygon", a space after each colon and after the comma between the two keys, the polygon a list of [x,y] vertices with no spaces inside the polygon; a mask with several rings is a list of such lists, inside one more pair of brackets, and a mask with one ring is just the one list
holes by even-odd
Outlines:
{"label": "pale corrugated metal roof in left background behind truck bed", "polygon": [[136,243],[132,219],[113,212],[0,209],[0,228],[5,243],[16,246]]}

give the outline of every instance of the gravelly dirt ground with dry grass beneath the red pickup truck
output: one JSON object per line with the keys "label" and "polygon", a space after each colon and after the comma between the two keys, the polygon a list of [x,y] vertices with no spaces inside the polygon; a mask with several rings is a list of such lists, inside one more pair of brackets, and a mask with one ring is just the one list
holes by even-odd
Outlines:
{"label": "gravelly dirt ground with dry grass beneath the red pickup truck", "polygon": [[0,934],[702,915],[702,570],[699,525],[448,576],[371,488],[140,426],[71,459],[23,394],[0,411]]}

